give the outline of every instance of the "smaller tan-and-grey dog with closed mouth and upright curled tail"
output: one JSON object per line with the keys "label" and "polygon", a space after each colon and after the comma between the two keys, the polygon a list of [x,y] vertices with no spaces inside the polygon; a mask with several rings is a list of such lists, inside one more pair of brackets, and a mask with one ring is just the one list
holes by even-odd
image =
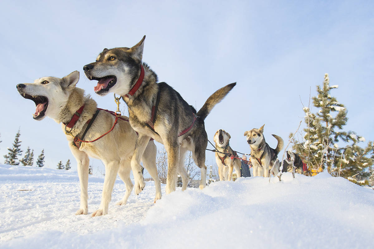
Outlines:
{"label": "smaller tan-and-grey dog with closed mouth and upright curled tail", "polygon": [[[278,140],[275,149],[270,148],[264,138],[264,126],[260,129],[252,129],[245,131],[247,143],[251,146],[251,162],[253,166],[253,176],[269,177],[269,170],[272,169],[274,162],[278,157],[278,153],[283,148],[283,139],[277,135],[272,135]],[[279,166],[275,166],[273,170],[274,175],[279,173]]]}

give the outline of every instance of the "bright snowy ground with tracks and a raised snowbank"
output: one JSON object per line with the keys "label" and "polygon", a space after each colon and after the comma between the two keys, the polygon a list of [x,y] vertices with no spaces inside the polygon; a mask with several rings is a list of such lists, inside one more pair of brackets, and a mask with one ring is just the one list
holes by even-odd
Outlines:
{"label": "bright snowy ground with tracks and a raised snowbank", "polygon": [[[344,178],[283,174],[165,195],[154,184],[109,214],[76,216],[76,172],[0,164],[0,248],[373,248],[374,191]],[[104,177],[89,177],[89,213]],[[165,190],[165,186],[162,186]],[[18,191],[30,190],[30,191]]]}

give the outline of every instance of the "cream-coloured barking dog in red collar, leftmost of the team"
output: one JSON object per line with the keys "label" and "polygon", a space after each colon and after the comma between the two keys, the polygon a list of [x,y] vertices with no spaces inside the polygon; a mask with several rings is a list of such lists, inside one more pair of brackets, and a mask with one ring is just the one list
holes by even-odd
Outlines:
{"label": "cream-coloured barking dog in red collar, leftmost of the team", "polygon": [[[114,115],[109,111],[96,108],[95,100],[90,96],[84,96],[84,90],[75,87],[79,80],[79,72],[74,71],[64,78],[44,77],[35,80],[34,83],[18,84],[18,92],[25,99],[35,102],[36,112],[34,119],[42,120],[45,116],[54,119],[57,123],[63,123],[61,128],[70,130],[74,136],[81,140],[94,140],[106,133],[114,124]],[[80,113],[80,114],[74,114]],[[94,117],[96,115],[96,118]],[[91,127],[87,127],[91,122]],[[135,149],[137,134],[131,128],[127,117],[120,116],[114,129],[101,139],[92,143],[74,143],[73,136],[66,135],[69,141],[71,153],[78,163],[78,175],[80,181],[80,208],[76,215],[87,214],[87,188],[89,156],[101,161],[105,165],[105,179],[102,190],[101,204],[92,216],[100,216],[108,213],[108,205],[111,200],[114,181],[117,172],[126,184],[126,193],[117,205],[125,205],[133,189],[130,179],[131,158]],[[65,124],[66,126],[65,126]],[[86,132],[85,134],[83,134]],[[153,141],[145,144],[145,152],[141,155],[144,167],[156,186],[156,197],[154,201],[161,198],[161,183],[157,177],[156,168],[156,145]],[[137,183],[139,186],[139,183]],[[140,191],[135,189],[135,193]]]}

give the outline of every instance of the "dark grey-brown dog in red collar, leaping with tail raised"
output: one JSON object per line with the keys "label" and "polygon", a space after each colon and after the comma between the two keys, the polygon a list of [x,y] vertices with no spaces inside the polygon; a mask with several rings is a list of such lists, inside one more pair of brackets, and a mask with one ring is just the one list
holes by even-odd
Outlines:
{"label": "dark grey-brown dog in red collar, leaping with tail raised", "polygon": [[97,94],[120,94],[128,105],[130,124],[140,134],[131,161],[134,168],[140,167],[138,158],[152,137],[162,143],[168,153],[166,193],[175,190],[178,171],[182,176],[182,190],[187,188],[188,174],[184,169],[187,150],[192,152],[195,164],[200,168],[199,187],[203,189],[208,144],[204,119],[236,83],[217,90],[196,112],[171,86],[165,82],[157,83],[156,73],[142,63],[144,39],[145,36],[131,48],[104,49],[96,62],[85,65],[83,70],[89,80],[98,81],[94,87]]}

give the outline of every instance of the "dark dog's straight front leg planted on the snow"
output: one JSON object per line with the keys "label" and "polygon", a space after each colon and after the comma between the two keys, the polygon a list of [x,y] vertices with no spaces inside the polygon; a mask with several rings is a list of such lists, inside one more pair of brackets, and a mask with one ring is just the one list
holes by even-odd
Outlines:
{"label": "dark dog's straight front leg planted on the snow", "polygon": [[179,163],[179,146],[176,142],[164,142],[166,151],[168,152],[168,176],[166,177],[166,194],[175,191],[177,184],[177,168]]}

